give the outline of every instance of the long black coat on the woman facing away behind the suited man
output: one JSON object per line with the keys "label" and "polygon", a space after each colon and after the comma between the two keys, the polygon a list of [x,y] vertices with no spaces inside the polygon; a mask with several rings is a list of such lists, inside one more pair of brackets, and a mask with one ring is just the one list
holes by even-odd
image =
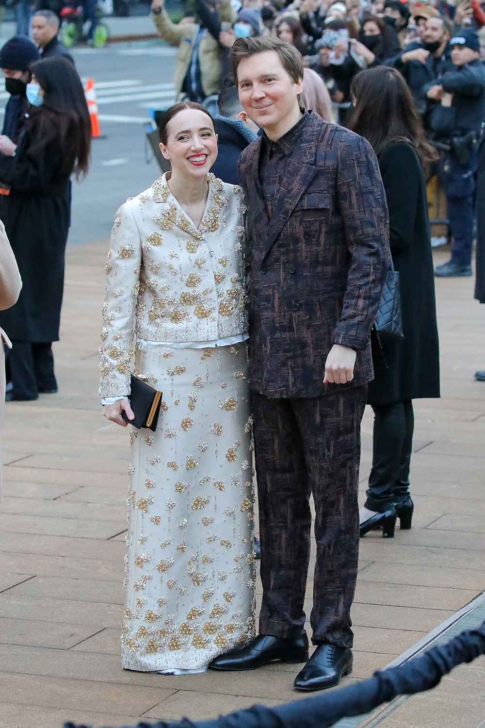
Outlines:
{"label": "long black coat on the woman facing away behind the suited man", "polygon": [[[374,361],[367,402],[439,397],[438,328],[425,175],[414,148],[389,144],[379,156],[389,210],[389,242],[400,274],[404,341],[382,339],[387,368]],[[406,204],[404,204],[404,201]]]}

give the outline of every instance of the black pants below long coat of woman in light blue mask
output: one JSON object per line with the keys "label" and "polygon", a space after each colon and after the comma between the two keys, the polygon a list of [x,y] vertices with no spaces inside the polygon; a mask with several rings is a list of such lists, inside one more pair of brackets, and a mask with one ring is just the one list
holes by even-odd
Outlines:
{"label": "black pants below long coat of woman in light blue mask", "polygon": [[36,400],[39,392],[57,389],[52,342],[12,341],[7,354],[7,380],[15,400]]}

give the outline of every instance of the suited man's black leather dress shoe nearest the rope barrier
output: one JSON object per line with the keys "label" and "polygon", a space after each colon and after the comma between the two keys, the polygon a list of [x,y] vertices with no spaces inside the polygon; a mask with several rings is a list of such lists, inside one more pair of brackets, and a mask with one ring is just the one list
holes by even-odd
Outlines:
{"label": "suited man's black leather dress shoe nearest the rope barrier", "polygon": [[347,647],[319,644],[294,681],[297,690],[324,690],[352,672],[353,654]]}

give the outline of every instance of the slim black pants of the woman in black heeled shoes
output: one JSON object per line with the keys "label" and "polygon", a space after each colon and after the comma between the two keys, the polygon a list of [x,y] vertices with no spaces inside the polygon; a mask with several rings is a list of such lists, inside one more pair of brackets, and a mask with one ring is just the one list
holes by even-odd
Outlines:
{"label": "slim black pants of the woman in black heeled shoes", "polygon": [[412,401],[374,406],[372,470],[365,507],[383,513],[409,498],[414,412]]}

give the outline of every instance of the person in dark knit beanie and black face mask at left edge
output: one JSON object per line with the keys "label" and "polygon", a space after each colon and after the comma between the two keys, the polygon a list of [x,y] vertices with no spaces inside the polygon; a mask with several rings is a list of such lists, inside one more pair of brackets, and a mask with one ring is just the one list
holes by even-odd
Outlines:
{"label": "person in dark knit beanie and black face mask at left edge", "polygon": [[39,50],[25,36],[14,36],[0,50],[0,68],[5,76],[5,90],[10,94],[1,133],[14,143],[25,123],[28,108],[25,87],[31,80],[28,69],[36,60],[39,60]]}

